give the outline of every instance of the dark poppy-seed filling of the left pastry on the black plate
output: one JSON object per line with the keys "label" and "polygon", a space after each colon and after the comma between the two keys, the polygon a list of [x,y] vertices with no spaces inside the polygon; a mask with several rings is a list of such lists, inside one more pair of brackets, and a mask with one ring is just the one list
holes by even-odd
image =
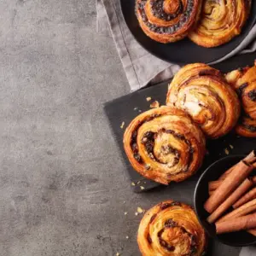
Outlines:
{"label": "dark poppy-seed filling of the left pastry on the black plate", "polygon": [[148,26],[149,30],[160,34],[172,34],[177,32],[177,30],[181,29],[183,25],[186,22],[188,22],[194,7],[194,0],[188,0],[186,9],[184,9],[182,1],[179,0],[177,12],[175,14],[167,14],[163,8],[164,0],[151,0],[151,11],[153,15],[159,18],[160,20],[170,21],[177,18],[177,16],[180,15],[180,18],[177,21],[177,23],[172,26],[157,26],[148,21],[148,17],[144,9],[146,3],[147,0],[139,1],[137,3],[137,10],[142,17],[143,22],[145,22],[145,25]]}

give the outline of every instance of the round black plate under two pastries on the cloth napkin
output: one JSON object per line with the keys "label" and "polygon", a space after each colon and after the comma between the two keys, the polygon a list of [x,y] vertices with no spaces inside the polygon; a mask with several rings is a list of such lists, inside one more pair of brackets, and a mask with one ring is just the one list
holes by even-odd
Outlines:
{"label": "round black plate under two pastries on the cloth napkin", "polygon": [[247,24],[243,27],[241,34],[233,38],[229,43],[218,46],[216,48],[207,49],[194,44],[189,38],[185,38],[176,43],[160,44],[151,38],[148,38],[138,24],[135,15],[136,0],[120,0],[121,9],[127,26],[131,33],[137,39],[137,42],[147,49],[153,55],[156,55],[164,61],[174,62],[178,64],[186,64],[193,62],[210,63],[227,55],[233,49],[241,44],[243,38],[251,30],[256,20],[256,1],[253,0],[251,14],[247,20]]}

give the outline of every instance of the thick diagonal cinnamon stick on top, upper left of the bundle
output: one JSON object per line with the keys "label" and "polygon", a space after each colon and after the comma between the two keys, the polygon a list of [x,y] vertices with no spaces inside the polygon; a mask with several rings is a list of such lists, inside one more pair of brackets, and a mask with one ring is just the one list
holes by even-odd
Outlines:
{"label": "thick diagonal cinnamon stick on top, upper left of the bundle", "polygon": [[241,160],[206,201],[204,207],[207,212],[212,213],[216,210],[225,198],[227,198],[252,171],[253,166]]}

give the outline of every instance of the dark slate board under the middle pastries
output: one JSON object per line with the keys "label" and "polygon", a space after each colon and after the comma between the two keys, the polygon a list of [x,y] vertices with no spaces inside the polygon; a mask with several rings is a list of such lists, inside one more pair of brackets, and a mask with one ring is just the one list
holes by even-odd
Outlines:
{"label": "dark slate board under the middle pastries", "polygon": [[[226,73],[238,67],[253,65],[254,59],[256,59],[256,54],[238,55],[231,60],[213,65],[212,67],[216,67]],[[119,146],[119,152],[122,154],[122,158],[125,162],[125,171],[128,172],[131,183],[135,183],[135,186],[131,184],[131,187],[135,192],[144,192],[148,189],[158,187],[160,184],[142,177],[133,170],[123,149],[123,134],[125,128],[129,125],[132,119],[134,119],[139,113],[149,109],[150,102],[156,100],[160,102],[160,105],[165,104],[167,86],[169,83],[170,81],[166,81],[165,83],[149,86],[148,88],[137,90],[129,95],[119,97],[118,99],[104,104],[104,110],[107,114],[109,125],[113,131],[113,137]],[[146,98],[148,96],[152,97],[152,101],[147,102]],[[120,128],[122,122],[125,122],[123,129]],[[253,150],[253,148],[256,148],[256,139],[238,137],[234,132],[230,132],[229,135],[218,140],[208,140],[208,154],[204,160],[204,164],[195,176],[188,179],[188,182],[193,180],[195,183],[207,166],[212,164],[215,160],[226,156],[225,148],[229,150],[230,154],[247,154]],[[175,185],[175,183],[172,183],[172,186],[173,185]],[[144,189],[141,189],[141,186],[143,186]],[[194,193],[194,191],[191,191],[191,193]]]}

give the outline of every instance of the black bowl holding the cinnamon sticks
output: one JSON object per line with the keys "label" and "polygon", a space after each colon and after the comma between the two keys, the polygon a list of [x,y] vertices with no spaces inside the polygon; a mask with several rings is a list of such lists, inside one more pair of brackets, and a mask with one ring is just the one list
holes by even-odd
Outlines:
{"label": "black bowl holding the cinnamon sticks", "polygon": [[[208,224],[206,221],[209,213],[204,209],[203,205],[208,198],[208,183],[212,180],[217,180],[221,174],[227,171],[231,166],[234,166],[236,163],[238,163],[242,158],[244,158],[244,156],[245,155],[232,155],[216,161],[201,175],[195,187],[195,211],[202,226],[205,228],[205,230],[207,230],[207,233],[210,236],[215,237],[218,239],[218,241],[233,247],[253,245],[256,243],[256,237],[248,234],[246,231],[227,233],[217,236],[215,232],[215,226],[213,224]],[[256,172],[253,171],[252,175],[255,174]]]}

